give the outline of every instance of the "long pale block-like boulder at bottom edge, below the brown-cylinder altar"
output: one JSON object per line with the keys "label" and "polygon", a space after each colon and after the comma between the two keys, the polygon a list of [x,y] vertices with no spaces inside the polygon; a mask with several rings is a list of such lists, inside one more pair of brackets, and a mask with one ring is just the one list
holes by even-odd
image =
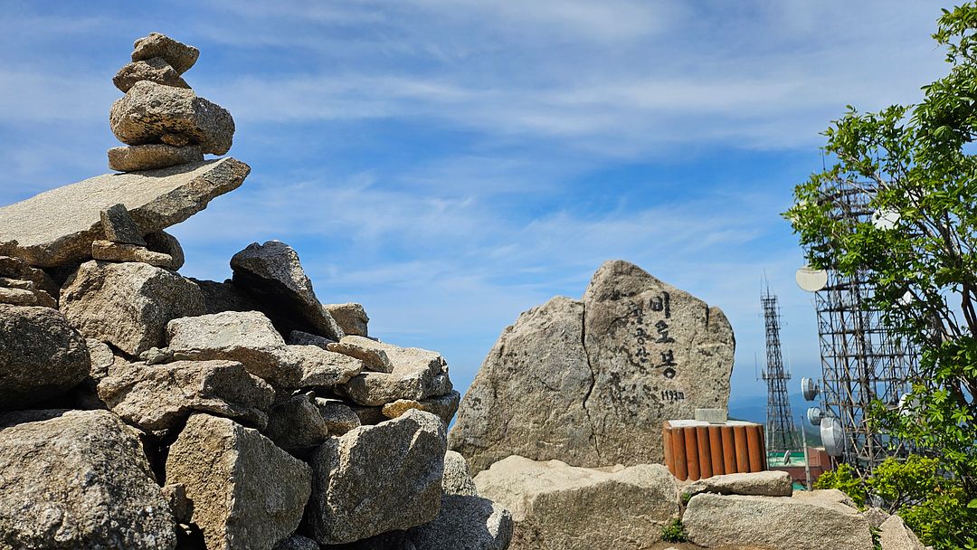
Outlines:
{"label": "long pale block-like boulder at bottom edge, below the brown-cylinder altar", "polygon": [[706,548],[871,550],[858,510],[817,498],[718,495],[692,497],[682,517],[689,539]]}

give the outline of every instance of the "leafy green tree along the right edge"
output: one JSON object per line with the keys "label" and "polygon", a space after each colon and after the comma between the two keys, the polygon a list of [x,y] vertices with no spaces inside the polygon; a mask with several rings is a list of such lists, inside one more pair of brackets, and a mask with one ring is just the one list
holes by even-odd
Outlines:
{"label": "leafy green tree along the right edge", "polygon": [[[867,277],[871,306],[918,347],[911,399],[878,403],[871,421],[935,460],[943,498],[926,505],[957,525],[924,541],[977,548],[977,8],[944,10],[933,37],[948,74],[915,106],[849,106],[825,132],[833,165],[796,187],[785,216],[810,264]],[[886,223],[834,215],[851,189]]]}

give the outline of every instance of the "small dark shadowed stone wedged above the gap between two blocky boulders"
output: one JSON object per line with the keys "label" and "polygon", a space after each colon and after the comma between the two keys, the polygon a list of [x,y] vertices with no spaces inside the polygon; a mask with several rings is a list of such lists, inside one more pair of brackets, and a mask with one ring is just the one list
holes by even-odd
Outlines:
{"label": "small dark shadowed stone wedged above the gap between two blocky boulders", "polygon": [[315,394],[299,394],[276,403],[268,411],[268,417],[265,435],[285,450],[317,447],[329,437]]}

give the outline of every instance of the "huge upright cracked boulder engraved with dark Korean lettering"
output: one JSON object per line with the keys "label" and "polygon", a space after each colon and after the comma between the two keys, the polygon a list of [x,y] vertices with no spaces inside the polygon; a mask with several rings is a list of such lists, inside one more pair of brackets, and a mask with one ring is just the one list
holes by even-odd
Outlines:
{"label": "huge upright cracked boulder engraved with dark Korean lettering", "polygon": [[660,463],[661,422],[724,408],[723,313],[637,266],[607,262],[581,301],[507,327],[458,410],[450,446],[474,471],[510,454],[579,466]]}

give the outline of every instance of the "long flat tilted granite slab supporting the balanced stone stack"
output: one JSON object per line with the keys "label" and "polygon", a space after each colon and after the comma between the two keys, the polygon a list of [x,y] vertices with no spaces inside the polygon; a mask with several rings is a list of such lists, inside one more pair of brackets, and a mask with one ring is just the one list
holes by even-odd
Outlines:
{"label": "long flat tilted granite slab supporting the balanced stone stack", "polygon": [[[0,254],[36,267],[92,257],[105,238],[102,211],[122,203],[140,233],[179,224],[240,187],[251,167],[232,157],[125,174],[104,174],[0,208]],[[11,243],[10,241],[17,241]]]}

